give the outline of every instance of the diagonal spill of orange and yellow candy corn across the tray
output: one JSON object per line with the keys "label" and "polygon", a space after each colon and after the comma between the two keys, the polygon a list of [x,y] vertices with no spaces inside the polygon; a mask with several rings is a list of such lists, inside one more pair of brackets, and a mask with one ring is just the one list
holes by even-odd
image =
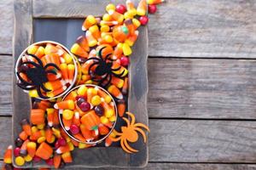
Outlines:
{"label": "diagonal spill of orange and yellow candy corn across the tray", "polygon": [[[141,0],[138,3],[137,8],[131,0],[127,0],[125,5],[118,4],[115,6],[113,4],[108,4],[106,7],[107,14],[103,14],[102,18],[95,18],[92,15],[86,17],[82,26],[82,30],[85,31],[85,36],[79,37],[71,48],[71,52],[77,56],[79,64],[81,65],[80,72],[82,72],[82,76],[81,80],[79,80],[79,84],[97,84],[97,82],[91,80],[88,72],[89,66],[94,62],[88,59],[98,55],[96,54],[98,51],[97,47],[105,47],[103,55],[104,53],[105,55],[112,53],[111,59],[113,60],[113,67],[120,67],[120,71],[125,72],[125,74],[122,74],[121,78],[113,76],[111,84],[107,87],[109,94],[112,94],[115,99],[118,99],[119,116],[123,116],[125,113],[125,95],[128,94],[127,66],[129,65],[129,55],[132,53],[131,47],[136,42],[139,35],[137,28],[148,23],[147,11],[150,14],[154,14],[156,11],[156,4],[162,2],[163,0]],[[30,53],[36,55],[42,53],[41,57],[43,57],[47,51],[46,47],[32,47],[29,50]],[[65,54],[61,55],[61,57],[63,57],[63,59],[60,59],[60,61],[63,60],[64,62],[60,62],[59,65],[61,68],[61,75],[63,75],[60,81],[63,80],[70,83],[72,78],[68,76],[70,75],[68,71],[73,66],[68,65],[72,65],[71,56]],[[46,57],[42,60],[48,62]],[[50,59],[50,62],[55,61]],[[52,88],[52,90],[55,91],[55,85],[51,82],[48,84],[47,87]],[[63,86],[66,86],[66,84],[63,84]],[[102,125],[108,127],[108,130],[106,128],[102,130],[102,135],[109,131],[111,124],[116,120],[112,111],[112,99],[109,98],[108,95],[103,94],[100,90],[84,87],[85,86],[81,86],[78,90],[70,92],[70,94],[67,95],[67,98],[63,101],[61,98],[53,100],[32,98],[30,121],[23,119],[20,122],[22,131],[20,132],[19,137],[15,139],[15,147],[13,148],[10,145],[5,151],[3,169],[15,168],[12,165],[12,156],[14,156],[15,165],[19,167],[24,166],[26,163],[38,161],[45,161],[50,167],[63,167],[65,163],[73,161],[71,152],[75,147],[84,149],[94,145],[79,143],[67,135],[64,129],[61,128],[58,117],[59,109],[63,110],[61,115],[63,117],[62,121],[65,124],[65,129],[70,131],[73,136],[79,134],[77,133],[78,131],[81,131],[80,137],[83,137],[83,140],[87,139],[88,131],[83,133],[83,130],[81,129],[83,122],[86,122],[85,124],[88,122],[88,119],[85,117],[86,114],[83,115],[85,109],[92,112],[91,117],[94,120],[94,124],[90,123],[90,127],[82,126],[82,128],[95,131],[94,134],[91,133],[95,139],[98,138],[96,137],[96,129],[99,129],[99,132],[101,133],[100,128]],[[95,92],[96,90],[97,93]],[[81,98],[81,94],[86,94],[87,99],[88,95],[91,96],[90,101],[86,101],[88,104],[85,103],[83,97]],[[30,95],[31,97],[38,97],[36,92],[31,92]],[[55,95],[57,94],[50,94],[49,97]],[[103,110],[108,111],[109,115],[106,115],[105,113],[102,114],[102,109],[99,107],[94,111],[91,110],[90,105],[94,105],[94,108],[96,108],[96,106],[101,106]],[[77,106],[79,107],[79,110],[82,110],[79,112],[79,116],[73,111]],[[98,118],[95,118],[96,116],[99,117],[99,120]],[[70,122],[68,122],[70,120],[72,120],[76,126],[79,126],[76,123],[80,123],[80,129],[71,127]],[[108,122],[111,122],[111,124]],[[114,137],[115,135],[116,134],[113,132],[110,133],[109,137]],[[110,144],[112,144],[112,140],[111,138],[107,138],[105,140],[105,145],[109,146]]]}

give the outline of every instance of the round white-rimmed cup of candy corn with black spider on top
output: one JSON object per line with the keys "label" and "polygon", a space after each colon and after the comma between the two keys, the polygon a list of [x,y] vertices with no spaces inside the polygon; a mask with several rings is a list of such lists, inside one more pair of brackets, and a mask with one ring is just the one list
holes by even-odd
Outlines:
{"label": "round white-rimmed cup of candy corn with black spider on top", "polygon": [[[53,52],[53,53],[51,53],[50,52],[50,54],[46,54],[46,46],[47,45],[49,45],[49,46],[51,46],[52,45],[52,47],[54,47],[54,48],[58,48],[58,51],[55,53],[55,52]],[[35,48],[35,49],[33,49],[32,47],[37,47],[37,48]],[[42,51],[40,51],[40,48],[42,49],[43,48],[43,52]],[[47,79],[48,79],[48,82],[46,82],[46,83],[48,83],[48,87],[51,87],[51,89],[50,89],[50,91],[49,92],[46,92],[46,91],[44,91],[44,90],[41,90],[41,92],[43,91],[44,92],[44,94],[45,94],[45,96],[46,96],[46,94],[48,93],[49,95],[47,95],[46,96],[46,98],[45,99],[56,99],[56,98],[59,98],[59,97],[61,97],[61,96],[63,96],[64,94],[66,94],[71,88],[73,88],[73,86],[74,86],[74,84],[75,84],[75,82],[77,81],[77,75],[78,75],[78,65],[77,65],[77,61],[76,61],[76,59],[74,58],[74,56],[73,56],[73,54],[71,54],[70,53],[70,51],[66,48],[66,47],[64,47],[61,43],[59,43],[59,42],[53,42],[53,41],[42,41],[42,42],[35,42],[35,43],[32,43],[32,45],[30,45],[30,46],[28,46],[21,54],[20,54],[20,56],[19,56],[19,58],[17,59],[17,61],[16,61],[16,64],[15,64],[15,76],[16,76],[16,78],[17,78],[17,82],[18,83],[20,83],[21,81],[20,81],[20,77],[18,77],[18,72],[20,71],[20,65],[23,63],[24,64],[24,62],[26,62],[26,61],[32,61],[32,62],[35,62],[36,64],[39,64],[38,63],[38,61],[37,61],[37,59],[35,59],[35,58],[33,58],[32,56],[30,56],[29,54],[34,54],[34,55],[36,55],[36,57],[38,57],[42,62],[43,62],[43,67],[45,66],[45,65],[47,65],[47,64],[49,64],[49,63],[54,63],[55,65],[56,65],[56,63],[54,62],[55,60],[54,59],[56,59],[56,60],[58,60],[58,62],[60,62],[59,64],[61,65],[61,64],[72,64],[71,66],[73,67],[73,79],[72,80],[68,80],[68,82],[67,82],[67,80],[66,79],[64,79],[64,77],[62,76],[62,72],[61,71],[58,71],[59,73],[56,75],[56,79],[55,80],[49,80],[49,77],[48,77],[48,75],[49,75],[49,73],[47,73]],[[48,60],[46,59],[46,56],[48,55]],[[52,55],[52,56],[54,56],[54,57],[52,57],[51,56],[51,58],[49,59],[49,55]],[[66,56],[68,56],[69,57],[69,62],[70,63],[67,63],[66,62],[66,59],[65,59],[65,57]],[[24,61],[23,59],[26,59],[26,61]],[[49,60],[50,60],[50,62],[49,62]],[[31,65],[31,64],[29,64],[29,65]],[[40,64],[39,64],[40,65]],[[60,68],[60,65],[57,65],[59,68]],[[35,65],[33,65],[33,66],[28,66],[28,65],[26,65],[27,67],[29,67],[29,68],[36,68],[36,66]],[[49,69],[50,68],[50,69]],[[47,70],[53,70],[52,69],[53,68],[53,66],[49,66],[48,68],[47,68]],[[55,68],[54,68],[55,69]],[[32,72],[32,71],[31,71]],[[26,75],[26,74],[25,74]],[[36,75],[36,74],[35,74]],[[24,77],[24,74],[22,75],[23,77]],[[27,76],[27,75],[26,75]],[[57,76],[59,76],[59,77],[57,77]],[[21,77],[21,78],[23,78],[23,77]],[[53,77],[53,74],[51,75],[51,78]],[[26,77],[27,78],[27,77]],[[39,78],[39,79],[43,79],[43,78]],[[55,89],[54,88],[54,82],[56,82],[56,81],[59,81],[58,82],[58,87],[61,87],[61,85],[62,85],[62,89],[61,88],[59,88],[59,89]],[[31,82],[31,80],[30,80],[30,82]],[[53,82],[53,83],[51,83],[51,82]],[[22,83],[21,83],[22,84]],[[24,82],[23,82],[23,85],[24,85]],[[22,86],[23,86],[22,85]],[[44,85],[45,85],[45,82],[44,82]],[[27,86],[27,85],[26,85]],[[28,87],[30,87],[29,85],[28,85]],[[41,88],[42,89],[42,88]],[[47,89],[49,89],[49,88],[47,88]],[[37,89],[36,88],[33,88],[33,89],[31,89],[31,90],[28,90],[28,89],[25,89],[25,88],[23,88],[23,90],[24,90],[24,92],[26,92],[26,93],[28,93],[28,94],[32,94],[32,92],[37,92]],[[31,93],[30,93],[31,92]],[[44,98],[42,98],[42,97],[40,97],[40,96],[38,96],[37,95],[38,94],[38,92],[33,96],[33,95],[31,95],[31,97],[34,97],[34,98],[37,98],[37,99],[44,99]]]}

